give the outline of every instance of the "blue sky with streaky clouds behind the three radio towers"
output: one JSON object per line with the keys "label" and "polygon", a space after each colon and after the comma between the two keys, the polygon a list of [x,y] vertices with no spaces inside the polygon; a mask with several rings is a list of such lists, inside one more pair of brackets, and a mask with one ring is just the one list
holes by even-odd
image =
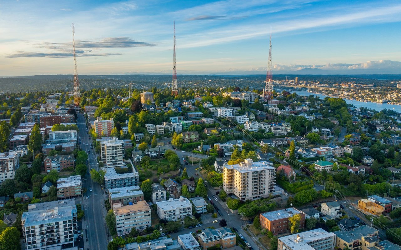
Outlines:
{"label": "blue sky with streaky clouds behind the three radio towers", "polygon": [[401,74],[399,0],[0,0],[0,76]]}

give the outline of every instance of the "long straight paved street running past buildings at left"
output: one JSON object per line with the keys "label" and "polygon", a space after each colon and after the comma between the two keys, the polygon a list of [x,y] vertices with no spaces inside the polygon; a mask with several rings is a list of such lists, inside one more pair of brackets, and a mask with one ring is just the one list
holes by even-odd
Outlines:
{"label": "long straight paved street running past buildings at left", "polygon": [[[89,135],[86,133],[85,118],[82,114],[78,114],[79,135],[82,143],[80,144],[81,149],[88,153],[88,172],[90,168],[99,170],[97,164],[95,150],[90,148],[91,140]],[[85,145],[85,144],[86,145]],[[84,244],[85,249],[99,249],[106,250],[107,243],[110,236],[106,234],[106,224],[104,220],[105,209],[104,209],[104,198],[105,194],[101,186],[93,182],[90,175],[86,175],[83,181],[83,187],[87,189],[87,192],[83,194],[81,202],[83,202],[83,208],[85,209],[85,218],[82,222],[82,228],[84,230]],[[92,192],[89,191],[92,188]],[[86,196],[89,196],[86,199]],[[86,229],[86,233],[85,233]]]}

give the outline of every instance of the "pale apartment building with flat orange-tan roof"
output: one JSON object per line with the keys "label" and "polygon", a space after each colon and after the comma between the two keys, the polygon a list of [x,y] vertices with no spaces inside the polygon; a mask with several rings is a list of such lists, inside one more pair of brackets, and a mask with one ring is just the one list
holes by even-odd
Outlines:
{"label": "pale apartment building with flat orange-tan roof", "polygon": [[114,204],[113,212],[118,236],[129,234],[132,228],[143,231],[152,226],[150,207],[144,200],[128,206],[122,206],[121,203]]}

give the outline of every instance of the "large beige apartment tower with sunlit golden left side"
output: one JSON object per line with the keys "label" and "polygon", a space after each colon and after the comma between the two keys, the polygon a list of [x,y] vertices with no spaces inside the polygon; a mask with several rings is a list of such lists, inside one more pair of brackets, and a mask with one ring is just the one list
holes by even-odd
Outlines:
{"label": "large beige apartment tower with sunlit golden left side", "polygon": [[274,192],[275,168],[271,162],[245,159],[223,168],[223,188],[241,200],[256,200]]}

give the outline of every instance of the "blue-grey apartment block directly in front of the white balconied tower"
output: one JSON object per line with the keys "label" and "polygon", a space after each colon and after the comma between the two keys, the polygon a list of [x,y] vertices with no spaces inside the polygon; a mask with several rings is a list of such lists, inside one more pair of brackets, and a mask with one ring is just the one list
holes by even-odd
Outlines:
{"label": "blue-grey apartment block directly in front of the white balconied tower", "polygon": [[133,169],[131,173],[117,174],[114,168],[105,168],[104,183],[106,190],[138,186],[139,174]]}

